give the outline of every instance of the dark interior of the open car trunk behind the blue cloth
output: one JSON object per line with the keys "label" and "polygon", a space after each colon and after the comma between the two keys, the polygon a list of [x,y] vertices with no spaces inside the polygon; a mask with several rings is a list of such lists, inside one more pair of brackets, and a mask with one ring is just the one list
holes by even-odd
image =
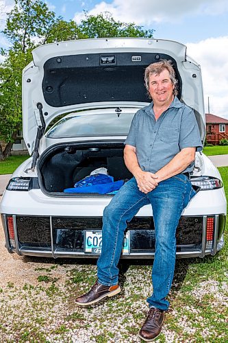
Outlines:
{"label": "dark interior of the open car trunk behind the blue cloth", "polygon": [[[125,166],[123,149],[122,142],[55,145],[39,158],[40,187],[45,192],[58,195],[64,189],[73,188],[75,182],[89,176],[91,171],[99,167],[105,167],[114,181],[127,181],[132,174]],[[72,193],[69,194],[72,196]]]}

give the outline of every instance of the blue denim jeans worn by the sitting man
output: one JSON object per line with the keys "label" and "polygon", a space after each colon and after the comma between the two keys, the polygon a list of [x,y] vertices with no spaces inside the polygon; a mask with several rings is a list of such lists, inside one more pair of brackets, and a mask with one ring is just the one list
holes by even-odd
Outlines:
{"label": "blue denim jeans worn by the sitting man", "polygon": [[123,247],[124,231],[139,209],[150,204],[155,225],[155,258],[152,270],[153,294],[149,306],[168,309],[166,296],[173,281],[176,258],[176,228],[181,212],[196,192],[188,177],[177,174],[159,183],[144,194],[131,178],[116,193],[103,213],[101,256],[97,262],[97,276],[103,285],[118,283],[117,264]]}

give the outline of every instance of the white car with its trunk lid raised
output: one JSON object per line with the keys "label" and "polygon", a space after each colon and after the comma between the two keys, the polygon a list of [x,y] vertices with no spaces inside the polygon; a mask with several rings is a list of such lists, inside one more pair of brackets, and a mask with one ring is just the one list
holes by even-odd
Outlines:
{"label": "white car with its trunk lid raised", "polygon": [[[113,195],[77,193],[74,185],[101,167],[114,181],[131,178],[123,142],[134,113],[150,102],[144,69],[161,59],[173,62],[178,97],[194,109],[204,141],[201,69],[186,55],[186,46],[151,38],[99,38],[34,49],[23,71],[23,137],[31,158],[12,175],[0,207],[9,252],[99,255],[103,209]],[[62,119],[47,130],[59,115]],[[215,255],[224,245],[223,182],[199,152],[191,181],[201,189],[181,215],[177,257]],[[153,258],[154,252],[153,212],[147,205],[128,223],[122,257]]]}

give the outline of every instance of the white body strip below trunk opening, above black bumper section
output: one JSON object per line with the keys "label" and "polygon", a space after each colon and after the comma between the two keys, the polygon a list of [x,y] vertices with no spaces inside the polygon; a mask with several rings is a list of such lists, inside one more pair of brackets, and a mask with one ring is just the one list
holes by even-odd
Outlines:
{"label": "white body strip below trunk opening, above black bumper section", "polygon": [[[223,198],[221,204],[220,199]],[[81,216],[102,216],[103,209],[112,200],[112,196],[74,196],[56,198],[46,196],[40,189],[27,192],[5,191],[1,202],[1,213],[16,215],[60,215],[74,216],[75,208]],[[20,203],[20,206],[18,206]],[[201,204],[201,205],[200,205]],[[207,206],[205,206],[207,204]],[[89,208],[89,211],[88,211]],[[183,215],[212,215],[226,213],[225,194],[223,189],[201,191],[197,193]],[[143,206],[137,216],[153,215],[151,205]]]}

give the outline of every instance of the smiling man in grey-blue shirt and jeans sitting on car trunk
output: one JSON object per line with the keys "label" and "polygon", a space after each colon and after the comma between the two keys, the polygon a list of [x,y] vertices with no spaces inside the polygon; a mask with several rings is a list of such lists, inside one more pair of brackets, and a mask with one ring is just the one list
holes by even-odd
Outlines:
{"label": "smiling man in grey-blue shirt and jeans sitting on car trunk", "polygon": [[125,141],[125,164],[133,178],[116,193],[103,213],[101,256],[97,282],[76,299],[85,306],[121,292],[117,264],[124,231],[139,209],[152,205],[155,225],[153,294],[149,314],[139,335],[150,342],[160,334],[169,303],[176,257],[175,232],[181,212],[195,195],[190,182],[201,138],[194,112],[179,102],[177,80],[170,61],[150,64],[144,75],[151,104],[136,113]]}

